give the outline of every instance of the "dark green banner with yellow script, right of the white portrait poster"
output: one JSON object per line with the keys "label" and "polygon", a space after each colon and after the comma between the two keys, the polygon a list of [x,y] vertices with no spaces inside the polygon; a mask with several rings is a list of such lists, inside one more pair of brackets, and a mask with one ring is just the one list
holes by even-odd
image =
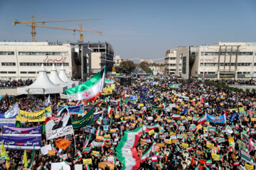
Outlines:
{"label": "dark green banner with yellow script, right of the white portrait poster", "polygon": [[94,123],[93,108],[81,118],[74,119],[71,117],[71,123],[74,129],[85,127],[86,125],[92,125]]}

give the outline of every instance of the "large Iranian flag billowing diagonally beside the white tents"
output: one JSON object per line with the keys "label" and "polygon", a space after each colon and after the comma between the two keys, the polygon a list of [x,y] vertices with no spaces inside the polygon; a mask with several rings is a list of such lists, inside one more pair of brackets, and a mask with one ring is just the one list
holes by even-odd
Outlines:
{"label": "large Iranian flag billowing diagonally beside the white tents", "polygon": [[94,77],[85,81],[85,83],[70,89],[65,89],[65,94],[75,100],[94,101],[100,96],[104,87],[105,67],[97,72]]}

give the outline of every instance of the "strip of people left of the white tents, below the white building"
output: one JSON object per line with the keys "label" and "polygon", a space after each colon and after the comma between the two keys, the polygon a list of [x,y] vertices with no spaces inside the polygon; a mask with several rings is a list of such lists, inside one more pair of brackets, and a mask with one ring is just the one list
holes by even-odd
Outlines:
{"label": "strip of people left of the white tents, below the white building", "polygon": [[14,87],[20,87],[20,86],[29,86],[33,84],[32,79],[26,79],[26,80],[1,80],[0,79],[0,88],[14,88]]}

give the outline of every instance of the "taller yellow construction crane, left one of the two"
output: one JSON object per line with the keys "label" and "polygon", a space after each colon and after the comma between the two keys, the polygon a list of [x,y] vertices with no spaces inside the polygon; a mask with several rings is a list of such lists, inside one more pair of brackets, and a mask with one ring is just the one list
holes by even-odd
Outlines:
{"label": "taller yellow construction crane, left one of the two", "polygon": [[31,35],[32,35],[32,42],[36,41],[36,23],[55,23],[55,22],[71,22],[71,21],[92,21],[92,20],[102,20],[102,18],[91,18],[91,19],[74,19],[74,20],[63,20],[63,21],[34,21],[34,17],[36,15],[31,16],[32,21],[27,22],[27,21],[17,21],[14,20],[13,24],[16,26],[17,23],[31,23]]}

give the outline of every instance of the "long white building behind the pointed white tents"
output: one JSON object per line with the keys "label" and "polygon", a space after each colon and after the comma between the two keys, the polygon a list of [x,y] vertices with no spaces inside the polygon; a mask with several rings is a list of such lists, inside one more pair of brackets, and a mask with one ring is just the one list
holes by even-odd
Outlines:
{"label": "long white building behind the pointed white tents", "polygon": [[85,69],[81,67],[81,51],[90,57],[89,49],[80,50],[79,46],[70,43],[0,42],[0,79],[36,79],[41,64],[48,74],[53,64],[58,72],[63,64],[68,77],[81,79],[81,69]]}

